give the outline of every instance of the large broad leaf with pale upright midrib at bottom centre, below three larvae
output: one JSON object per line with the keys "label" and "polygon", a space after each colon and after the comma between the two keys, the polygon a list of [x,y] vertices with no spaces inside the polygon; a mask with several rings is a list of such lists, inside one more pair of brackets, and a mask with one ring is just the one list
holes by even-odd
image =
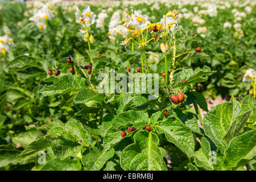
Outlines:
{"label": "large broad leaf with pale upright midrib at bottom centre, below three larvae", "polygon": [[162,152],[158,147],[159,138],[148,131],[134,134],[134,142],[127,146],[120,158],[121,167],[129,171],[167,170]]}

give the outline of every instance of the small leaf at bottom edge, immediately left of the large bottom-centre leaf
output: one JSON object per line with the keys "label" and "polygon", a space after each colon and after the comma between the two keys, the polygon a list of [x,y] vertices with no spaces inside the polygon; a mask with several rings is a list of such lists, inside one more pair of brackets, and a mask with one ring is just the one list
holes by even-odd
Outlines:
{"label": "small leaf at bottom edge, immediately left of the large bottom-centre leaf", "polygon": [[82,164],[85,171],[99,171],[107,160],[114,155],[114,149],[106,152],[98,150],[96,147],[90,147],[82,153]]}

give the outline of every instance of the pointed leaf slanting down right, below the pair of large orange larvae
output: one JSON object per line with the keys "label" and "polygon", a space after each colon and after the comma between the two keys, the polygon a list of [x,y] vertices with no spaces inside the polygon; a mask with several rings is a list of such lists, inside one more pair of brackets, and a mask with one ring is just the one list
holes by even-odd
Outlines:
{"label": "pointed leaf slanting down right, below the pair of large orange larvae", "polygon": [[156,125],[158,133],[164,133],[169,142],[172,142],[190,158],[195,151],[195,142],[191,130],[180,121],[171,117]]}

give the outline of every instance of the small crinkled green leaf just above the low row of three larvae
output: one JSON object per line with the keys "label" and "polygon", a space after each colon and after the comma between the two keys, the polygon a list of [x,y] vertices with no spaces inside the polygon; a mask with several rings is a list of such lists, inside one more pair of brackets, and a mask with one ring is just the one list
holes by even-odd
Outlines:
{"label": "small crinkled green leaf just above the low row of three larvae", "polygon": [[148,114],[142,113],[141,111],[133,111],[129,110],[123,113],[118,114],[113,119],[112,126],[117,130],[121,129],[123,126],[133,125],[134,127],[138,127],[141,125],[146,125],[148,121]]}

